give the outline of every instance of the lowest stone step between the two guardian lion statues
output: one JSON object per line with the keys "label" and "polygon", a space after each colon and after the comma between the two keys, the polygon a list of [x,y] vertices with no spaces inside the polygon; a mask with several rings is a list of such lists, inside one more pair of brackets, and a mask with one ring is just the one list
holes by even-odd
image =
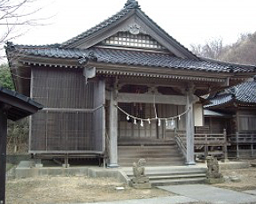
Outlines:
{"label": "lowest stone step between the two guardian lion statues", "polygon": [[206,178],[150,180],[151,186],[206,184]]}

